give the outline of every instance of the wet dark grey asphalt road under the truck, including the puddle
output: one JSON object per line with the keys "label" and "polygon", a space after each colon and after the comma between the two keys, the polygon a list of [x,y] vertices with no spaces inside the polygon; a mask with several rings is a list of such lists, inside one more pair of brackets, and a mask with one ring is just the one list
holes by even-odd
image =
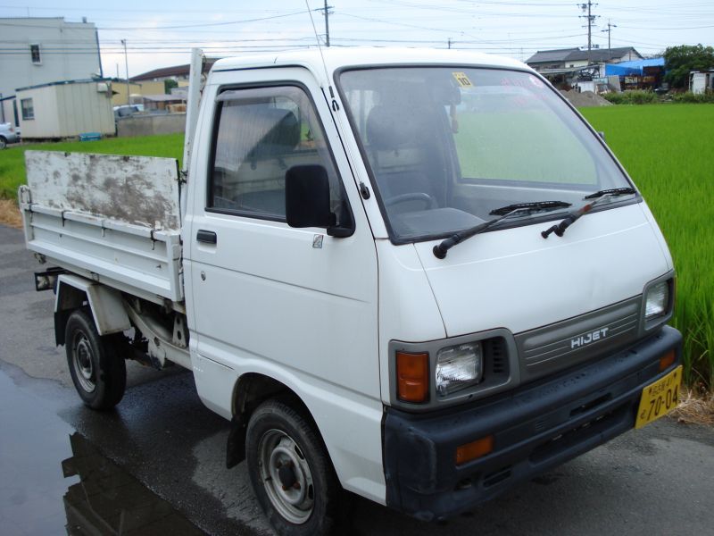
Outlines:
{"label": "wet dark grey asphalt road under the truck, including the puddle", "polygon": [[[202,405],[190,373],[129,363],[116,411],[81,405],[36,270],[21,231],[0,225],[0,532],[104,523],[106,533],[151,510],[143,533],[270,534],[245,464],[225,469],[228,423]],[[116,485],[95,489],[97,480]],[[92,515],[110,513],[104,521],[87,521],[92,498],[101,502]],[[351,502],[353,534],[710,534],[714,430],[661,419],[448,523]]]}

